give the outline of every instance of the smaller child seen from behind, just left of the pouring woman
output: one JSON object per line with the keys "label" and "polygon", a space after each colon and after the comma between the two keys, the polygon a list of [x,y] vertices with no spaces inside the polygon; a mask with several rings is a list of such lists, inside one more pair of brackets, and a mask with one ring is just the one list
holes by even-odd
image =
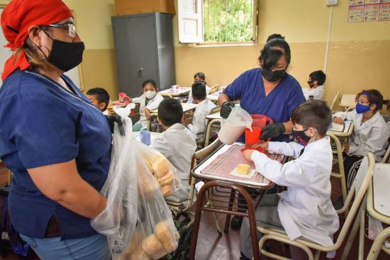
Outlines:
{"label": "smaller child seen from behind, just left of the pouring woman", "polygon": [[192,123],[187,127],[196,135],[196,140],[199,142],[205,140],[206,116],[210,114],[211,109],[216,107],[213,102],[206,98],[206,95],[206,85],[203,82],[196,82],[192,85],[192,98],[198,106],[196,106]]}

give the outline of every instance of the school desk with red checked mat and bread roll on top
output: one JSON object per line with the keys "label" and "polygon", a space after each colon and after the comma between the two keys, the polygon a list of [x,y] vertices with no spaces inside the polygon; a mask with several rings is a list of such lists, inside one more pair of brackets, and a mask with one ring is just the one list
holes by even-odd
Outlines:
{"label": "school desk with red checked mat and bread roll on top", "polygon": [[[203,185],[197,197],[194,233],[192,236],[189,259],[194,259],[199,224],[201,222],[201,211],[226,214],[224,229],[226,233],[228,232],[231,215],[249,217],[253,256],[254,259],[260,259],[258,236],[256,231],[255,208],[261,197],[263,197],[265,191],[272,188],[274,184],[257,172],[253,175],[249,175],[249,178],[247,178],[247,176],[237,176],[235,168],[240,163],[250,165],[252,170],[255,169],[253,162],[248,162],[244,158],[244,155],[242,155],[241,149],[244,148],[244,146],[245,145],[241,143],[223,145],[201,162],[196,168],[192,169],[192,178],[198,178],[207,182]],[[283,155],[277,154],[269,154],[268,156],[273,160],[278,160],[279,162],[282,162],[284,158]],[[251,194],[249,194],[245,188],[256,190],[254,197],[251,197]],[[247,212],[238,212],[233,210],[234,200],[237,197],[237,194],[242,194],[244,199],[247,201]],[[256,200],[257,195],[259,195],[257,198],[258,201],[256,206],[254,206],[253,199]],[[238,203],[239,202],[237,201],[237,204]]]}

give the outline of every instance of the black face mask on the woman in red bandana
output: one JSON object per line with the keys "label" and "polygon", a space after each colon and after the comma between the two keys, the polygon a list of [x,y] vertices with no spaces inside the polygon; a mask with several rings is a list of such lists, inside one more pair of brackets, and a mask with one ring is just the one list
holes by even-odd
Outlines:
{"label": "black face mask on the woman in red bandana", "polygon": [[[62,40],[56,40],[49,36],[49,34],[43,30],[43,32],[53,40],[52,50],[49,56],[46,57],[49,63],[60,70],[66,72],[72,70],[83,61],[83,52],[85,49],[84,43],[68,43]],[[43,53],[45,55],[45,53]]]}

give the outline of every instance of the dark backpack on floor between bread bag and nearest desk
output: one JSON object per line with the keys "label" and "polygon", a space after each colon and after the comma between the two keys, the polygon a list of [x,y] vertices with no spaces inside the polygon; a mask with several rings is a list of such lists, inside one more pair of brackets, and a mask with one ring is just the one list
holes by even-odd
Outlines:
{"label": "dark backpack on floor between bread bag and nearest desk", "polygon": [[185,260],[189,258],[189,249],[191,247],[192,230],[194,222],[191,217],[185,212],[180,212],[176,217],[173,217],[176,229],[180,235],[178,248],[175,251],[167,254],[161,260]]}

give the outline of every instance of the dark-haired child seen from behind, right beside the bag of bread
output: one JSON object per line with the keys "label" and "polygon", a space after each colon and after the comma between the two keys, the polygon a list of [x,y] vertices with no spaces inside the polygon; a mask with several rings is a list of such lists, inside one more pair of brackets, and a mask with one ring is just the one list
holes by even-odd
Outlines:
{"label": "dark-haired child seen from behind, right beside the bag of bread", "polygon": [[189,170],[191,159],[196,150],[195,135],[182,124],[184,114],[182,105],[174,98],[164,99],[158,107],[158,121],[165,132],[155,139],[152,147],[162,153],[177,169],[181,187],[167,201],[182,202],[187,206],[189,199]]}

